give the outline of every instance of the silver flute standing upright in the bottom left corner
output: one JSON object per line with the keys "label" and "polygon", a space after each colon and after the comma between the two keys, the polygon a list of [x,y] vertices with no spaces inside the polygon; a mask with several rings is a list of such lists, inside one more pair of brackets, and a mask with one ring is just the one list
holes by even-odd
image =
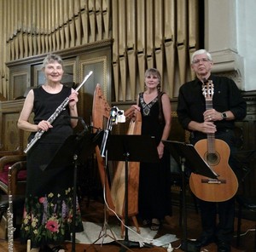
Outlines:
{"label": "silver flute standing upright in the bottom left corner", "polygon": [[[9,166],[9,172],[8,172],[9,181],[11,180],[10,170],[11,170],[11,167]],[[9,203],[9,207],[7,209],[8,251],[13,252],[15,227],[14,227],[14,213],[13,213],[13,196],[12,196],[11,188],[9,188],[8,203]]]}

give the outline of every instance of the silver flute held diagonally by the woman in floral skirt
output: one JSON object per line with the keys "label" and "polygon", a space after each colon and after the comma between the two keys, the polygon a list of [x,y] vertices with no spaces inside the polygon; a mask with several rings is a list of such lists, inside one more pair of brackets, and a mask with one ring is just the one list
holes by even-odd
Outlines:
{"label": "silver flute held diagonally by the woman in floral skirt", "polygon": [[[90,71],[85,77],[82,83],[79,84],[79,86],[75,89],[76,92],[79,91],[79,89],[84,85],[84,83],[87,81],[87,79],[91,76],[92,71]],[[63,100],[63,102],[61,103],[60,106],[58,106],[55,110],[55,112],[49,117],[49,119],[47,120],[47,122],[49,122],[50,124],[53,123],[55,121],[55,118],[58,117],[60,115],[60,113],[63,111],[63,109],[67,106],[69,102],[69,97],[67,97],[65,100]],[[24,150],[25,153],[27,153],[32,146],[34,146],[34,144],[41,138],[41,136],[44,134],[44,130],[39,129],[38,132],[34,135],[34,137],[32,138],[32,140],[27,144],[26,149]]]}

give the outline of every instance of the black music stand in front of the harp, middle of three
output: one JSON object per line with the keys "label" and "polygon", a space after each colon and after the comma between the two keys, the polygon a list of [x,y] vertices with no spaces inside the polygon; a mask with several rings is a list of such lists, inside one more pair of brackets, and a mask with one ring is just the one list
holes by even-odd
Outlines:
{"label": "black music stand in front of the harp, middle of three", "polygon": [[149,135],[109,135],[107,150],[108,160],[125,161],[125,246],[120,250],[125,251],[125,247],[139,247],[128,238],[128,162],[157,163],[159,156],[154,137]]}

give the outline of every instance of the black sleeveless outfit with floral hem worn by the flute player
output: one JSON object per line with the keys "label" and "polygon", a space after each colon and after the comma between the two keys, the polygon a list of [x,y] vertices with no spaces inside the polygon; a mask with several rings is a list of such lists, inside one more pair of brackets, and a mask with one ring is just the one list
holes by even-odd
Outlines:
{"label": "black sleeveless outfit with floral hem worn by the flute player", "polygon": [[[42,87],[34,89],[34,123],[48,120],[56,108],[71,94],[64,87],[58,94],[49,94]],[[73,134],[68,106],[55,118],[53,128],[27,152],[26,199],[20,228],[21,242],[31,239],[32,247],[60,244],[70,240],[73,220],[73,165],[59,160],[60,165],[49,167],[55,153],[69,135]],[[32,133],[29,141],[32,139]],[[63,157],[63,159],[65,159]],[[58,163],[58,162],[57,162]],[[76,207],[76,231],[83,225]]]}

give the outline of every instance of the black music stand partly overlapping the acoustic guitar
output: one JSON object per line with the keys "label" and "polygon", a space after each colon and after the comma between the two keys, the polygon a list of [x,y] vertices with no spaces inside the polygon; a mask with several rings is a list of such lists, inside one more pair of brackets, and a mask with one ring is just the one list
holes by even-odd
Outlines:
{"label": "black music stand partly overlapping the acoustic guitar", "polygon": [[[195,251],[195,248],[189,248],[187,241],[187,211],[186,211],[186,191],[185,191],[185,167],[192,172],[217,180],[218,175],[201,158],[195,147],[191,144],[162,140],[163,144],[170,150],[172,157],[181,165],[182,169],[182,192],[183,192],[183,238],[181,249],[183,251]],[[198,250],[200,251],[200,250]]]}

